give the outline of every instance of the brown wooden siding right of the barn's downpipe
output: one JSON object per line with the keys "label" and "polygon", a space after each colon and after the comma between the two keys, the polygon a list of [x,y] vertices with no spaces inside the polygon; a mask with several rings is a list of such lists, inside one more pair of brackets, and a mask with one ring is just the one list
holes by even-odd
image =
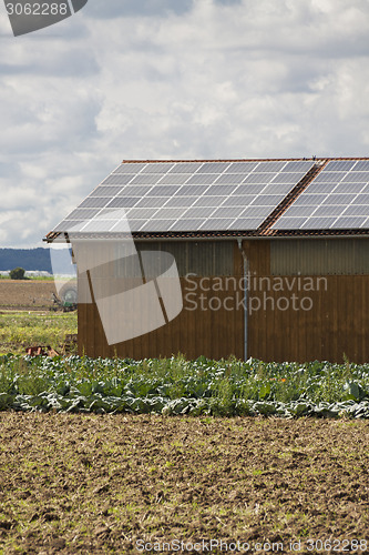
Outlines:
{"label": "brown wooden siding right of the barn's downpipe", "polygon": [[[270,241],[248,241],[245,251],[256,284],[259,278],[269,278],[270,283],[275,283],[276,276],[270,272]],[[301,276],[300,281],[296,275],[280,279],[285,281],[284,291],[275,291],[266,284],[260,291],[249,292],[255,306],[257,300],[263,309],[265,306],[249,314],[249,356],[276,362],[341,363],[346,355],[356,363],[369,361],[369,275],[311,275],[309,279],[315,289],[319,285],[319,291],[304,291],[304,284],[308,283],[304,280],[308,276]],[[281,296],[291,304],[293,295],[298,299],[295,306],[299,310],[273,310]],[[299,303],[304,297],[311,299],[311,310],[301,310]]]}

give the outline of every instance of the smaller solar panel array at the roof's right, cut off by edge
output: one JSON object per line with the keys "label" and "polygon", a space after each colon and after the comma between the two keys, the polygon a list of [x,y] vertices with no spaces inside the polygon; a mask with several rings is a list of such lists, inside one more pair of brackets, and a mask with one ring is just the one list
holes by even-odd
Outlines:
{"label": "smaller solar panel array at the roof's right, cut off by edge", "polygon": [[271,226],[275,230],[368,228],[368,160],[328,162],[294,204]]}

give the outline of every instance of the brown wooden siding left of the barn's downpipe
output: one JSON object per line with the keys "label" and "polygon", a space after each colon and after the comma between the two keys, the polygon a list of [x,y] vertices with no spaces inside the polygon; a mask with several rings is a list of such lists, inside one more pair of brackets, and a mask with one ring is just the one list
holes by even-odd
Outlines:
{"label": "brown wooden siding left of the barn's downpipe", "polygon": [[[242,271],[242,262],[239,261],[239,252],[237,243],[229,242],[229,248],[234,250],[234,271]],[[222,242],[222,250],[224,243]],[[196,282],[199,287],[199,282],[203,278],[191,276],[193,282]],[[184,310],[172,322],[163,327],[150,332],[140,337],[135,337],[123,343],[107,345],[103,326],[99,316],[95,304],[79,305],[79,352],[89,356],[121,356],[132,359],[172,356],[183,353],[188,359],[197,359],[205,355],[211,359],[228,357],[235,355],[237,359],[243,357],[244,353],[244,311],[240,306],[238,310],[226,310],[224,307],[225,297],[228,299],[226,306],[236,306],[239,299],[239,292],[229,291],[226,285],[226,280],[229,278],[223,276],[221,280],[224,285],[219,285],[219,278],[208,278],[204,283],[209,291],[201,291],[204,295],[203,305],[208,306],[212,303],[211,299],[216,297],[215,304],[221,304],[221,310],[188,310],[194,306],[194,302],[201,300],[196,296],[186,296],[191,292],[188,287],[194,287],[185,278],[181,278],[182,292],[184,296]],[[223,287],[224,291],[212,291],[212,286],[216,280],[217,287]],[[198,289],[197,289],[198,291]]]}

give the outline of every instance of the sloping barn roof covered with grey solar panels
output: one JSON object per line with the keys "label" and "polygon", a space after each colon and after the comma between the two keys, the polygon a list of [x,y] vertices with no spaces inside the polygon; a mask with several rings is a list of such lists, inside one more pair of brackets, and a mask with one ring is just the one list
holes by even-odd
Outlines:
{"label": "sloping barn roof covered with grey solar panels", "polygon": [[369,159],[123,161],[45,240],[369,235]]}

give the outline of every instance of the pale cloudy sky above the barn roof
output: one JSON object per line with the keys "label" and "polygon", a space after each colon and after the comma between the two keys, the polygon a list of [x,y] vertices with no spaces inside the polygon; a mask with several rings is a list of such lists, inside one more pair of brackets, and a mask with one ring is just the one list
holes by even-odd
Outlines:
{"label": "pale cloudy sky above the barn roof", "polygon": [[0,248],[122,160],[369,155],[368,0],[89,0],[14,38],[0,6]]}

